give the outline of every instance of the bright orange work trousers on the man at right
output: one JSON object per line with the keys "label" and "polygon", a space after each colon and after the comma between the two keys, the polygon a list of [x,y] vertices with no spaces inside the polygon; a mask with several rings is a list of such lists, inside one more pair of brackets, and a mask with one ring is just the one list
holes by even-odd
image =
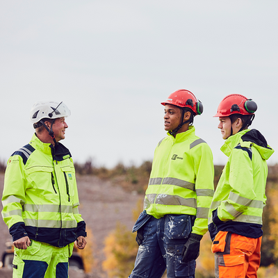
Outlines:
{"label": "bright orange work trousers on the man at right", "polygon": [[261,237],[247,238],[219,231],[211,247],[216,278],[256,278],[261,262]]}

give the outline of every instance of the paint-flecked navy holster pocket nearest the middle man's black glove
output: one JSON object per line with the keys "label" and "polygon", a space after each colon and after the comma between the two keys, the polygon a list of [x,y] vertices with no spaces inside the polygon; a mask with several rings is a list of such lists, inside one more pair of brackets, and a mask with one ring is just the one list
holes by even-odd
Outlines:
{"label": "paint-flecked navy holster pocket nearest the middle man's black glove", "polygon": [[184,239],[188,238],[191,232],[191,218],[190,215],[165,215],[165,235],[169,239]]}

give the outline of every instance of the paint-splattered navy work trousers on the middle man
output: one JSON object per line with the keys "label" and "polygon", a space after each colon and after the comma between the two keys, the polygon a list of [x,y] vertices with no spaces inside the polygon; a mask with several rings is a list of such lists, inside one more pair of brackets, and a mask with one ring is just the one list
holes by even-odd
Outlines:
{"label": "paint-splattered navy work trousers on the middle man", "polygon": [[141,213],[133,231],[142,229],[143,240],[138,248],[134,269],[129,278],[194,278],[196,262],[183,263],[183,245],[192,229],[190,215],[165,215],[156,219]]}

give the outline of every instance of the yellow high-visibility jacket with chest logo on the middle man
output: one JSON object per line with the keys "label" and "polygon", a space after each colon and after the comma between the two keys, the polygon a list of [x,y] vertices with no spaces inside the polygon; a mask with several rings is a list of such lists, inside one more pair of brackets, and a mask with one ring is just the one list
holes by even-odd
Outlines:
{"label": "yellow high-visibility jacket with chest logo on the middle man", "polygon": [[195,127],[167,133],[154,152],[144,208],[155,218],[165,214],[195,215],[192,232],[208,230],[208,209],[213,197],[213,156],[210,147],[195,136]]}

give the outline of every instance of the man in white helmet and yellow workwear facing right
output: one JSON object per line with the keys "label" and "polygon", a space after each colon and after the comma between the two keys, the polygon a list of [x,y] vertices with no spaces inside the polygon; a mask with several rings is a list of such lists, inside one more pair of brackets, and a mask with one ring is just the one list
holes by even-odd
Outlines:
{"label": "man in white helmet and yellow workwear facing right", "polygon": [[2,215],[15,246],[13,277],[67,278],[74,242],[86,245],[72,156],[59,142],[67,116],[63,102],[34,104],[35,134],[8,160]]}

